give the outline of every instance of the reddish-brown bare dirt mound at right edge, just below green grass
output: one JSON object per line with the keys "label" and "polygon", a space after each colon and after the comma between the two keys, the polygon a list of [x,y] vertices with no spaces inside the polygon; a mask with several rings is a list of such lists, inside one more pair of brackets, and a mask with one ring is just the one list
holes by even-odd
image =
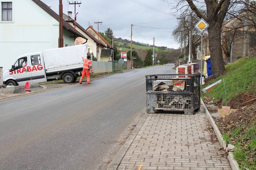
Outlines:
{"label": "reddish-brown bare dirt mound at right edge, just below green grass", "polygon": [[256,96],[249,94],[239,94],[233,96],[227,105],[230,106],[230,109],[241,109],[243,106],[252,104],[255,100]]}

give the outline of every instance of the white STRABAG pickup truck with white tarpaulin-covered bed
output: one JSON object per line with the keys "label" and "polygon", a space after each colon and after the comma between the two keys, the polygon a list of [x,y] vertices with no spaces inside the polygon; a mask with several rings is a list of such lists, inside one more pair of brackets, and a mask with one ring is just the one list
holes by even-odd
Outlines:
{"label": "white STRABAG pickup truck with white tarpaulin-covered bed", "polygon": [[83,60],[89,47],[86,44],[49,49],[21,55],[12,68],[3,74],[3,84],[9,86],[60,80],[65,83],[76,81],[82,74]]}

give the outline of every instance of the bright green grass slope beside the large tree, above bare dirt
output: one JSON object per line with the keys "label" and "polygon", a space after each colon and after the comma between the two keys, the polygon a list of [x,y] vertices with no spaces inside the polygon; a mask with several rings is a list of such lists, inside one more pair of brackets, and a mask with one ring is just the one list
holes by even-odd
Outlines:
{"label": "bright green grass slope beside the large tree, above bare dirt", "polygon": [[[231,64],[226,66],[226,72],[222,76],[208,81],[204,86],[208,85],[222,79],[225,81],[227,101],[229,101],[232,96],[236,96],[241,93],[251,93],[256,91],[256,57],[241,58]],[[225,91],[224,83],[214,87],[211,91],[207,92],[204,96],[210,96],[215,101],[218,98],[223,99],[222,103],[225,102]]]}

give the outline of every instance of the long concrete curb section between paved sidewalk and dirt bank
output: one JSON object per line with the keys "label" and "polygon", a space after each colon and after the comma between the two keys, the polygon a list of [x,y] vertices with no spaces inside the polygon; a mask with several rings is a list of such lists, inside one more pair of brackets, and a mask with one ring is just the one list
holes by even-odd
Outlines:
{"label": "long concrete curb section between paved sidewalk and dirt bank", "polygon": [[226,141],[223,139],[223,137],[222,137],[222,135],[221,135],[221,133],[220,133],[220,130],[219,130],[218,126],[216,125],[216,123],[215,123],[215,121],[213,120],[213,118],[212,118],[210,112],[209,112],[208,109],[206,108],[206,106],[205,106],[205,104],[204,104],[202,98],[200,98],[200,100],[201,100],[201,104],[202,104],[203,107],[204,107],[204,111],[205,111],[205,113],[206,113],[206,116],[207,116],[207,118],[208,118],[210,124],[211,124],[212,127],[213,127],[214,133],[216,134],[217,139],[218,139],[219,142],[220,142],[220,146],[223,147],[224,150],[226,150],[226,148],[227,148],[227,143],[226,143]]}

